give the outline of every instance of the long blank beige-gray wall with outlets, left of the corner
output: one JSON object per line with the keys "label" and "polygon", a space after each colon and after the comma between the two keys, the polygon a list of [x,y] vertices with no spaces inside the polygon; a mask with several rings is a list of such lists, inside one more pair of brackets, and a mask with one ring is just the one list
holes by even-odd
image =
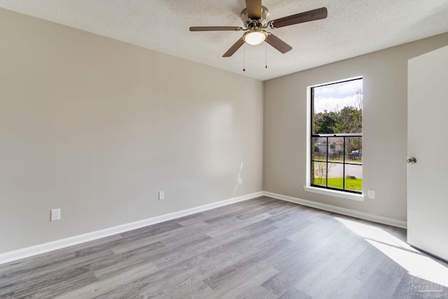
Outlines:
{"label": "long blank beige-gray wall with outlets, left of the corner", "polygon": [[261,81],[3,9],[0,41],[0,253],[262,190]]}

